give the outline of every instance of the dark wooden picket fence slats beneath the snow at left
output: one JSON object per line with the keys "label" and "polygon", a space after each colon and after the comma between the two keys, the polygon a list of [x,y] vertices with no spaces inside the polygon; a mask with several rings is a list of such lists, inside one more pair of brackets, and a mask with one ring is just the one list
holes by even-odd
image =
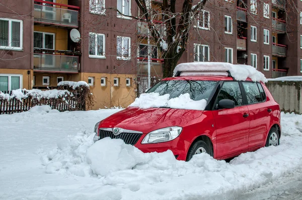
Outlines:
{"label": "dark wooden picket fence slats beneath the snow at left", "polygon": [[[1,91],[0,91],[1,92]],[[4,91],[3,93],[12,96],[13,91]],[[78,92],[66,92],[63,96],[47,98],[36,97],[34,95],[27,95],[26,90],[22,90],[26,96],[23,98],[2,98],[0,96],[0,115],[13,114],[28,111],[34,106],[48,105],[51,109],[56,109],[60,112],[63,111],[85,111],[85,96]]]}

